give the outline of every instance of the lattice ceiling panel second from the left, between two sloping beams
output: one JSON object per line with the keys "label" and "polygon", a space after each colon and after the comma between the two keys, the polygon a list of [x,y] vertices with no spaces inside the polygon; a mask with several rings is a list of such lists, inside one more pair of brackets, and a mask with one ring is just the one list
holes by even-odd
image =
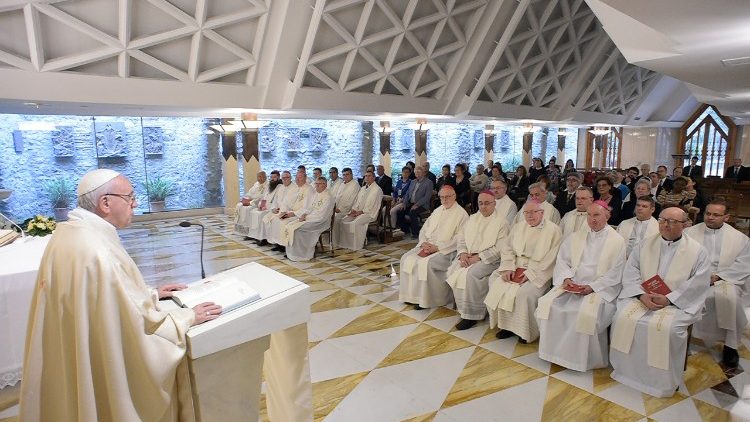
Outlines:
{"label": "lattice ceiling panel second from the left, between two sloping beams", "polygon": [[310,24],[302,86],[439,99],[486,4],[327,2]]}

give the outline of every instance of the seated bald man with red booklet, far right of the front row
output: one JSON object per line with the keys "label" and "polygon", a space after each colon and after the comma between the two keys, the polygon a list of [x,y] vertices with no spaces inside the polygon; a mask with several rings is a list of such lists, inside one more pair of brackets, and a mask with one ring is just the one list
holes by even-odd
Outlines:
{"label": "seated bald man with red booklet, far right of the front row", "polygon": [[659,234],[637,244],[625,264],[609,359],[616,381],[671,397],[682,380],[687,328],[706,301],[710,262],[706,249],[683,235],[684,211],[666,208],[658,221]]}

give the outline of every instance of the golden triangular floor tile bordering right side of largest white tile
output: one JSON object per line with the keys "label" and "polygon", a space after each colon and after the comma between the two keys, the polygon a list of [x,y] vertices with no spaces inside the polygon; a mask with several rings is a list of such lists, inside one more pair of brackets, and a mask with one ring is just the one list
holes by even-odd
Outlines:
{"label": "golden triangular floor tile bordering right side of largest white tile", "polygon": [[442,408],[474,400],[546,376],[485,348],[474,349]]}

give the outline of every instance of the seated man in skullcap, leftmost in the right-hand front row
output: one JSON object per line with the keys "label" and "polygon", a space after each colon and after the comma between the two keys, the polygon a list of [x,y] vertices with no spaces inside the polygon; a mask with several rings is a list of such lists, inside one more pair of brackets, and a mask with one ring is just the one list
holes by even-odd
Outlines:
{"label": "seated man in skullcap, leftmost in the right-hand front row", "polygon": [[452,186],[443,186],[438,198],[441,205],[419,231],[417,246],[401,256],[399,300],[415,309],[445,306],[453,299],[448,267],[456,256],[458,232],[469,215],[456,202]]}

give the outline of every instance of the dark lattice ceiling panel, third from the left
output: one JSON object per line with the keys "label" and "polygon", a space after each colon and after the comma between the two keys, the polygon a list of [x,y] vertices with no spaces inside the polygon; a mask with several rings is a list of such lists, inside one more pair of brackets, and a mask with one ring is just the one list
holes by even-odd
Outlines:
{"label": "dark lattice ceiling panel, third from the left", "polygon": [[548,107],[606,36],[583,0],[536,0],[523,14],[479,100]]}

